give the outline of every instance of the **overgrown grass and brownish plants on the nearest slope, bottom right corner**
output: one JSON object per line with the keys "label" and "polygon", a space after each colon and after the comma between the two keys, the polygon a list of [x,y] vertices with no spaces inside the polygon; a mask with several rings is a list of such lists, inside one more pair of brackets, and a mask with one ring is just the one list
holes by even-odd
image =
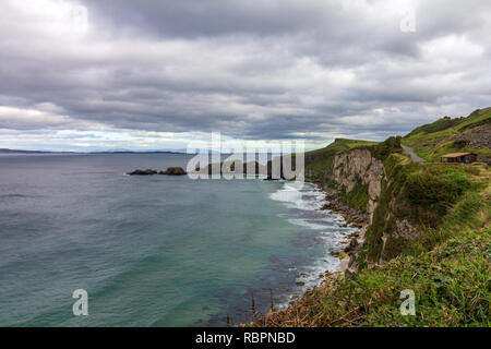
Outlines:
{"label": "overgrown grass and brownish plants on the nearest slope, bottom right corner", "polygon": [[[403,253],[351,278],[330,278],[255,325],[490,326],[490,174],[484,166],[479,174],[466,174],[475,185],[448,208],[444,224],[429,230],[438,237],[433,248]],[[399,312],[404,289],[416,294],[416,316]]]}

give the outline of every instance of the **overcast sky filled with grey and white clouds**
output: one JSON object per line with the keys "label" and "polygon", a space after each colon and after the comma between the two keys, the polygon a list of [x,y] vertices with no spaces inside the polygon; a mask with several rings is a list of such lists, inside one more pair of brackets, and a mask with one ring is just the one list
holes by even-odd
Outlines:
{"label": "overcast sky filled with grey and white clouds", "polygon": [[0,148],[382,141],[491,106],[488,0],[2,0]]}

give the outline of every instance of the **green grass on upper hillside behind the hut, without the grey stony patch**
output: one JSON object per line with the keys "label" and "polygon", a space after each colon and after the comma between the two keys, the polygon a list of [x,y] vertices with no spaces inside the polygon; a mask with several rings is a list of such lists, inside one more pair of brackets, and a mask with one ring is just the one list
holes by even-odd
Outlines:
{"label": "green grass on upper hillside behind the hut, without the grey stony patch", "polygon": [[458,146],[452,136],[472,132],[475,127],[491,122],[491,108],[479,109],[467,118],[442,118],[433,123],[415,129],[403,139],[403,144],[415,148],[415,153],[428,161],[438,161],[440,156],[455,152],[472,152],[491,157],[491,149]]}

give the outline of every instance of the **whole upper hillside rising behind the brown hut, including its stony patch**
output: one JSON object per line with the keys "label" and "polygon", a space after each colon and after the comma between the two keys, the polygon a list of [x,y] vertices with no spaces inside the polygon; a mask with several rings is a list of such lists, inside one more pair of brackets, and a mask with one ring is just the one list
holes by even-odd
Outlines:
{"label": "whole upper hillside rising behind the brown hut, including its stony patch", "polygon": [[491,164],[491,108],[478,109],[467,118],[436,120],[415,129],[403,139],[427,161],[456,152],[478,154],[478,160]]}

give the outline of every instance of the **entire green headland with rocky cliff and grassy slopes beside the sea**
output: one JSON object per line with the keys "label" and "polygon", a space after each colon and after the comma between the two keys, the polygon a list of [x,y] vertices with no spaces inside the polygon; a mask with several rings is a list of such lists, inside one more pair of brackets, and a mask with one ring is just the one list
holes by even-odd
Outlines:
{"label": "entire green headland with rocky cliff and grassy slopes beside the sea", "polygon": [[[345,273],[254,326],[489,326],[491,108],[442,118],[385,142],[336,140],[306,154],[325,209],[360,228]],[[403,152],[411,147],[427,163]],[[475,164],[442,164],[451,152]],[[399,311],[416,296],[416,315]]]}

